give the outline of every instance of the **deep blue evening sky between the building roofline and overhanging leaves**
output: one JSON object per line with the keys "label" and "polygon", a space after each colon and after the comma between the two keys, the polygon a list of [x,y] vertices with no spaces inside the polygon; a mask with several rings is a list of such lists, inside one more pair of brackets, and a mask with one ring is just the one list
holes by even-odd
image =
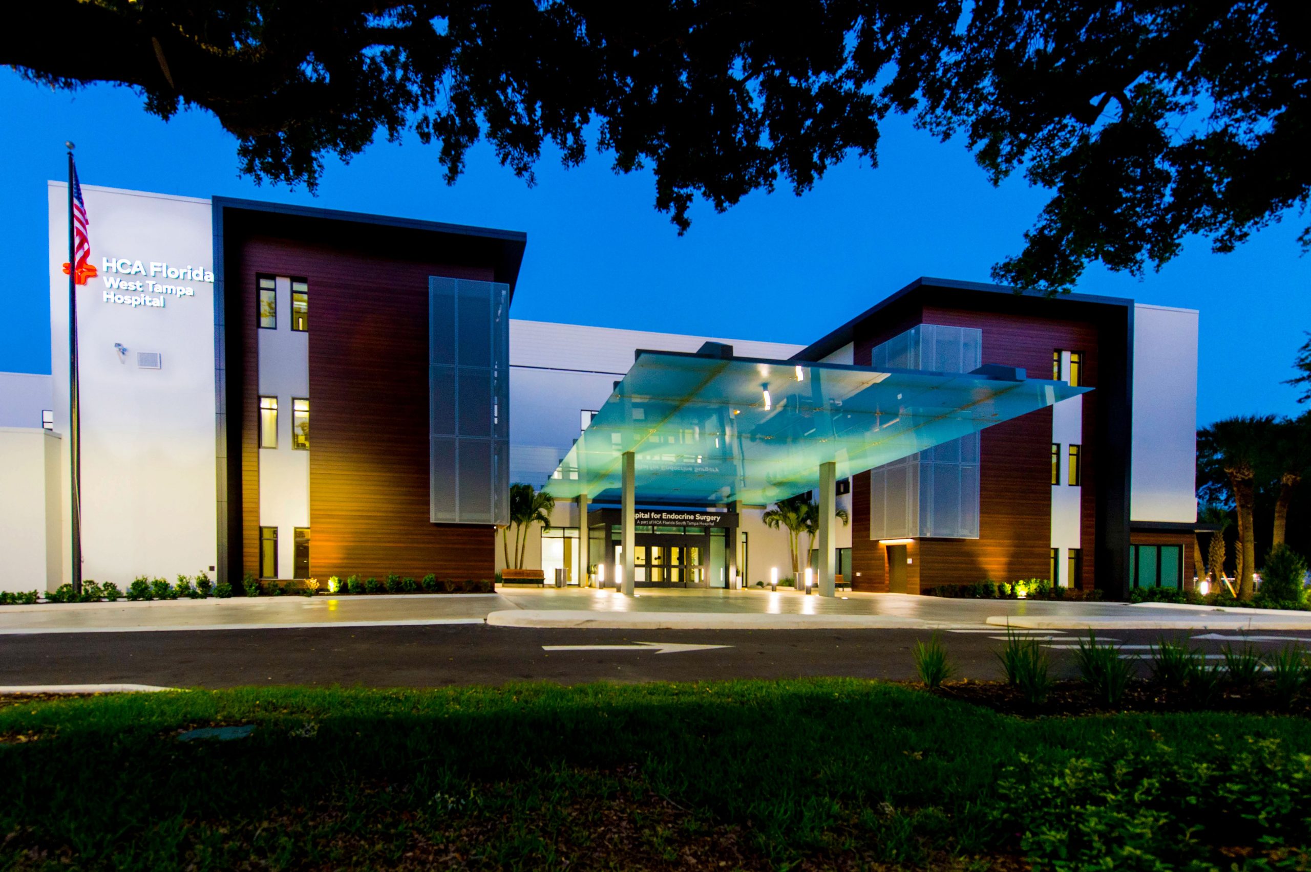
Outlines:
{"label": "deep blue evening sky between the building roofline and overhanging leaves", "polygon": [[[87,185],[190,196],[244,196],[524,230],[528,249],[514,316],[540,321],[808,343],[919,275],[987,282],[1015,253],[1045,191],[1012,178],[988,185],[958,143],[941,144],[894,118],[880,166],[832,168],[809,194],[754,194],[724,215],[694,211],[679,237],[653,207],[649,173],[616,175],[606,154],[565,170],[553,152],[536,187],[489,148],[454,187],[437,151],[413,137],[332,160],[317,196],[237,175],[236,140],[210,115],[165,123],[122,88],[52,93],[0,71],[0,251],[5,306],[0,371],[50,372],[46,179],[64,177],[63,141],[77,144]],[[92,220],[94,250],[96,216]],[[1311,258],[1290,215],[1234,254],[1192,240],[1142,280],[1093,267],[1079,289],[1201,310],[1198,422],[1297,414],[1281,384],[1311,329]]]}

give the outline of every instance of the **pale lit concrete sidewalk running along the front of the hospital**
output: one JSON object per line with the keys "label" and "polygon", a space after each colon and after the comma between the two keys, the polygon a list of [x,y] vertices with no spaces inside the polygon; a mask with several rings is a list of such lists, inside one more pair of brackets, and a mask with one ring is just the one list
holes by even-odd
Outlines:
{"label": "pale lit concrete sidewalk running along the front of the hospital", "polygon": [[434,626],[617,630],[1299,630],[1311,613],[895,593],[515,588],[485,594],[257,597],[0,606],[0,635]]}

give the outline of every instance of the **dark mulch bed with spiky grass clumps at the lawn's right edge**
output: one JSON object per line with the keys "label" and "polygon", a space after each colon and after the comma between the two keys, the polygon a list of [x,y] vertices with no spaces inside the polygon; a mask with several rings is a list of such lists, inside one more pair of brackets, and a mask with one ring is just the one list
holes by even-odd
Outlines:
{"label": "dark mulch bed with spiky grass clumps at the lawn's right edge", "polygon": [[[922,686],[907,682],[909,686]],[[1076,718],[1080,715],[1110,715],[1117,712],[1168,714],[1183,711],[1228,711],[1260,715],[1311,716],[1311,698],[1304,694],[1291,706],[1282,704],[1264,685],[1253,687],[1217,689],[1206,704],[1198,704],[1186,691],[1165,690],[1148,681],[1134,681],[1125,690],[1120,706],[1109,707],[1082,681],[1058,681],[1051,686],[1044,703],[1034,706],[1021,690],[1004,681],[949,681],[936,695],[983,706],[1003,715],[1019,718]]]}

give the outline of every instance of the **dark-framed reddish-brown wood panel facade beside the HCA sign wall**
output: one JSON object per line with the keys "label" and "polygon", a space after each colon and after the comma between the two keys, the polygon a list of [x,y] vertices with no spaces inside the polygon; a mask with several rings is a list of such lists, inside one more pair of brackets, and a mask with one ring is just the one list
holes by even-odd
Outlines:
{"label": "dark-framed reddish-brown wood panel facade beside the HCA sign wall", "polygon": [[311,576],[490,579],[494,526],[430,521],[427,280],[505,282],[503,242],[241,211],[224,230],[224,288],[240,297],[228,327],[241,361],[239,393],[228,386],[241,409],[241,529],[228,536],[240,572],[258,575],[256,275],[271,274],[309,288]]}

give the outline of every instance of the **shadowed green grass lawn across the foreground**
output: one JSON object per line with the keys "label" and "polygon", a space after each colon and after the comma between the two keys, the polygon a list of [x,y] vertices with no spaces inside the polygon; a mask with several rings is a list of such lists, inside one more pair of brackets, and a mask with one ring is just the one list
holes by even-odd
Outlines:
{"label": "shadowed green grass lawn across the foreground", "polygon": [[0,710],[0,869],[1307,868],[1308,750],[856,680],[71,699]]}

